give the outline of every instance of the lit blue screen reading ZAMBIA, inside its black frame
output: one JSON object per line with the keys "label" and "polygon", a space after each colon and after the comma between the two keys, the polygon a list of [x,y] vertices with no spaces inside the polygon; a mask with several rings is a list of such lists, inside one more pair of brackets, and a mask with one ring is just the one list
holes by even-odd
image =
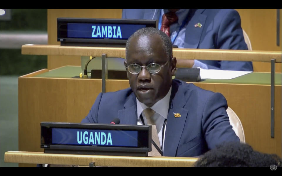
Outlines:
{"label": "lit blue screen reading ZAMBIA, inside its black frame", "polygon": [[140,24],[68,23],[68,38],[97,38],[127,40],[135,31],[145,28]]}

